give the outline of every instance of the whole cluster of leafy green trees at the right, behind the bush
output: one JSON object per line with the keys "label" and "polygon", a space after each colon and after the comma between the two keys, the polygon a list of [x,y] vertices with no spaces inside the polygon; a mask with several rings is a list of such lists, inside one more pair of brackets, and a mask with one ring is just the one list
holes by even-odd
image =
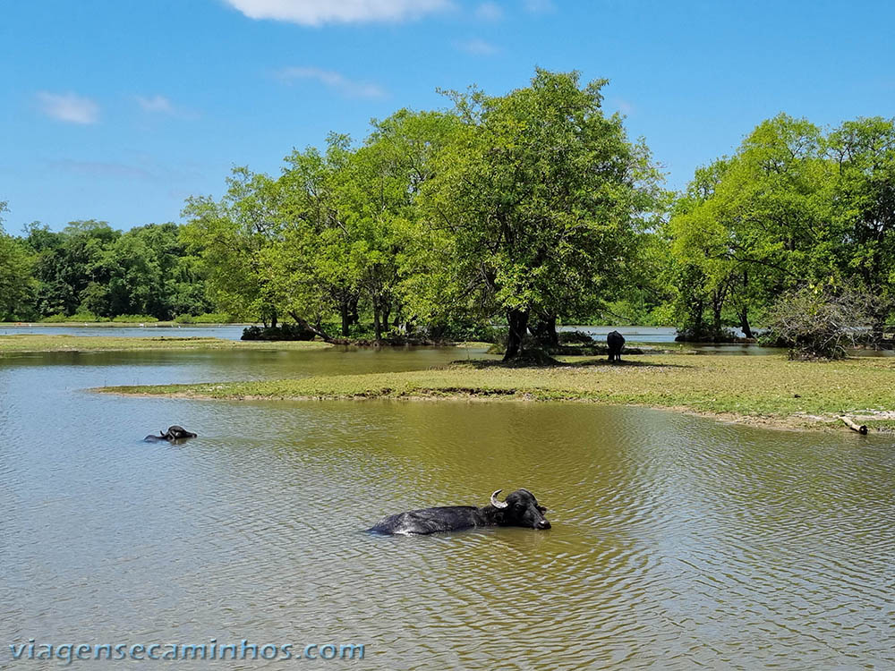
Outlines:
{"label": "whole cluster of leafy green trees at the right, behind the bush", "polygon": [[[895,121],[759,124],[734,157],[696,171],[664,229],[676,321],[696,337],[751,333],[782,293],[854,285],[892,294]],[[890,309],[881,302],[874,334]]]}

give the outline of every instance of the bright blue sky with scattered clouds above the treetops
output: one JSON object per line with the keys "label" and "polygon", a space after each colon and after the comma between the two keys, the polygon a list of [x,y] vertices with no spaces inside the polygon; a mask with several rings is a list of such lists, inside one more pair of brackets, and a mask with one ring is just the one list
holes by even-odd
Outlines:
{"label": "bright blue sky with scattered clouds above the treetops", "polygon": [[181,221],[232,166],[277,174],[329,131],[535,65],[609,79],[607,110],[681,188],[781,111],[895,115],[893,21],[888,0],[9,0],[4,226]]}

